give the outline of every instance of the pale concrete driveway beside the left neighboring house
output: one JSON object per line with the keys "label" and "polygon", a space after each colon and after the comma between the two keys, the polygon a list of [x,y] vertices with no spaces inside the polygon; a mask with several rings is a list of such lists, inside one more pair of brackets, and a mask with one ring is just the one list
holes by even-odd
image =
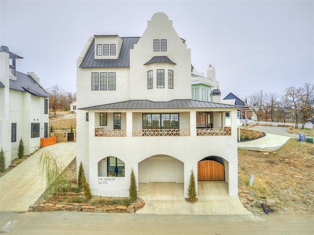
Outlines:
{"label": "pale concrete driveway beside the left neighboring house", "polygon": [[41,153],[48,150],[65,166],[76,157],[76,143],[64,142],[39,149],[35,154],[0,178],[0,211],[27,211],[45,191],[46,182],[39,174]]}

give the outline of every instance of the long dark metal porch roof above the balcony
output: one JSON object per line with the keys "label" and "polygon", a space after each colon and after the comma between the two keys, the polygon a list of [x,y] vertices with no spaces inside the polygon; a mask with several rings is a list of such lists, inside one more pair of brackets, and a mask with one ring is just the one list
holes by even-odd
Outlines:
{"label": "long dark metal porch roof above the balcony", "polygon": [[151,100],[128,100],[111,104],[96,105],[82,110],[88,109],[203,109],[203,108],[245,108],[243,106],[221,104],[193,99],[174,99],[164,102],[156,102]]}

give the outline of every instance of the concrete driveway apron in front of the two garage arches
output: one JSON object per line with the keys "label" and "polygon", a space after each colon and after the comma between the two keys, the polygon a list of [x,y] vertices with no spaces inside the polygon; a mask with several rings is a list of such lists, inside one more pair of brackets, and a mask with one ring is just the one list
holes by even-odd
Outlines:
{"label": "concrete driveway apron in front of the two garage arches", "polygon": [[184,200],[183,183],[140,183],[139,197],[146,205],[138,214],[225,214],[252,215],[238,197],[229,197],[224,181],[199,181],[198,201]]}

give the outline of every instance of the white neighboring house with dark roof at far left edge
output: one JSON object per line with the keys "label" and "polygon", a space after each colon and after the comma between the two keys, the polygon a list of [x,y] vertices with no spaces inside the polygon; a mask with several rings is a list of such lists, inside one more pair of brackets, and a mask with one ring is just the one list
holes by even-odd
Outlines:
{"label": "white neighboring house with dark roof at far left edge", "polygon": [[22,137],[25,155],[40,147],[48,137],[50,95],[33,72],[16,71],[16,59],[23,57],[0,47],[0,147],[8,167],[17,158]]}

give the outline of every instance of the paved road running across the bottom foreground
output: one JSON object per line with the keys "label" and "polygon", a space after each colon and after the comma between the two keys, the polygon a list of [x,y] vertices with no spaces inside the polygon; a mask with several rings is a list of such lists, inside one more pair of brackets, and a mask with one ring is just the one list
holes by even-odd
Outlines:
{"label": "paved road running across the bottom foreground", "polygon": [[0,212],[10,235],[313,235],[314,216]]}

